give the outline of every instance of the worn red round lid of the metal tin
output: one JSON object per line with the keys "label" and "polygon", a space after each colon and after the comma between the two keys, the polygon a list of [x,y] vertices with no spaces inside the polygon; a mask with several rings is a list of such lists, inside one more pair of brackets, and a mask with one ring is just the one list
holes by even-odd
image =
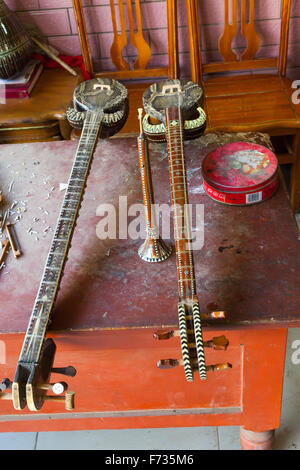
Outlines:
{"label": "worn red round lid of the metal tin", "polygon": [[234,142],[206,155],[202,176],[206,183],[225,192],[249,192],[274,179],[278,161],[266,147],[249,142]]}

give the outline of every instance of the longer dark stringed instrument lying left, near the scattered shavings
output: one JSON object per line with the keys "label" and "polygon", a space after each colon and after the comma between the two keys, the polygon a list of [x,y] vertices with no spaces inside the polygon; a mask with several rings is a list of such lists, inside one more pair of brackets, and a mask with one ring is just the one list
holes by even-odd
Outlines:
{"label": "longer dark stringed instrument lying left, near the scattered shavings", "polygon": [[82,127],[82,133],[15,377],[12,384],[7,379],[1,384],[2,391],[12,385],[12,394],[2,393],[0,398],[12,399],[16,410],[23,409],[27,404],[31,411],[38,411],[45,400],[65,401],[67,410],[74,408],[73,392],[66,392],[65,396],[47,395],[48,390],[61,395],[67,389],[64,382],[49,383],[51,372],[74,376],[76,370],[72,366],[53,368],[56,346],[51,338],[45,336],[98,137],[104,138],[120,130],[127,115],[127,90],[115,80],[89,80],[81,83],[74,92],[67,117],[72,125]]}

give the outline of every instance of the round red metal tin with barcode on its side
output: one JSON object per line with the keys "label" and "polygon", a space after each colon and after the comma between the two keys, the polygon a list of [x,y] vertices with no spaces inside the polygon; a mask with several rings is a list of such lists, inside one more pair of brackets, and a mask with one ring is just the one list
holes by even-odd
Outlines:
{"label": "round red metal tin with barcode on its side", "polygon": [[206,155],[202,164],[206,193],[225,204],[264,201],[278,188],[278,161],[262,145],[235,142]]}

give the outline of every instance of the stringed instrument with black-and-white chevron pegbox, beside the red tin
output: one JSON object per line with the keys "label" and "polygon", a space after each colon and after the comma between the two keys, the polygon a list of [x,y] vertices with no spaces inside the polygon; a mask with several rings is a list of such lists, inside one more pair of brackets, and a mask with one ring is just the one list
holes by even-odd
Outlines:
{"label": "stringed instrument with black-and-white chevron pegbox, beside the red tin", "polygon": [[[202,99],[203,92],[199,85],[177,79],[154,83],[143,95],[147,113],[143,119],[143,130],[147,139],[167,142],[179,290],[178,319],[182,361],[163,359],[159,361],[158,366],[170,368],[182,364],[189,382],[193,381],[195,370],[198,370],[200,378],[205,380],[207,370],[223,370],[230,367],[227,363],[205,365],[204,346],[226,349],[228,341],[222,337],[203,343],[196,292],[184,139],[199,137],[205,130]],[[145,187],[151,184],[150,176],[148,175],[146,181],[142,177],[142,183],[145,191]],[[212,318],[224,316],[223,312],[214,313]],[[156,333],[158,339],[168,339],[172,336],[174,332]]]}

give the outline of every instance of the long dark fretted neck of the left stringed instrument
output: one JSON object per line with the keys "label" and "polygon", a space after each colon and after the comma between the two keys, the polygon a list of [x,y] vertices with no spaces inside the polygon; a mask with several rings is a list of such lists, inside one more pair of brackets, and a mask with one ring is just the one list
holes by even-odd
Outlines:
{"label": "long dark fretted neck of the left stringed instrument", "polygon": [[63,276],[103,112],[87,111],[68,187],[51,243],[43,277],[29,320],[19,363],[38,363],[47,325]]}

